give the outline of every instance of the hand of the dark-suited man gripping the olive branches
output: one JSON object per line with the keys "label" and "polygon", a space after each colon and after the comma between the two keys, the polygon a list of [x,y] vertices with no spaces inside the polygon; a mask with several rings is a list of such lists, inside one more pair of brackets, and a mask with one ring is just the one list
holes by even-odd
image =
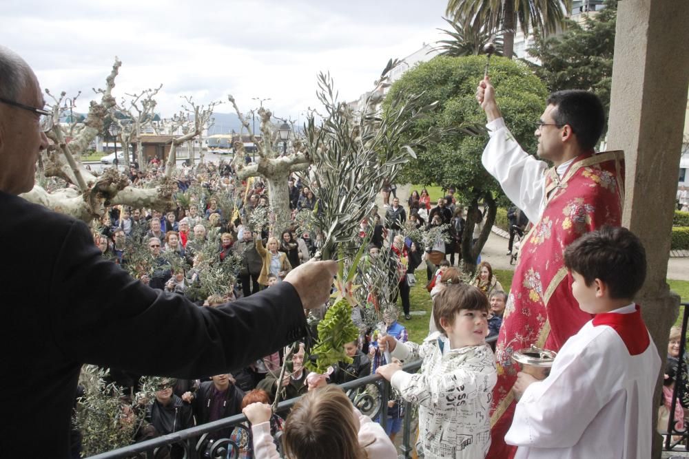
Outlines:
{"label": "hand of the dark-suited man gripping the olive branches", "polygon": [[313,309],[328,301],[337,272],[335,261],[307,261],[289,271],[285,282],[294,286],[304,309]]}

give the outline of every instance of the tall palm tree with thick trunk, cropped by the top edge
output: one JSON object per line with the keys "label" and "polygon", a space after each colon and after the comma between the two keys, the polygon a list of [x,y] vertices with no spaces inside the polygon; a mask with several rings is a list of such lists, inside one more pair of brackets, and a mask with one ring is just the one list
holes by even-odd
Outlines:
{"label": "tall palm tree with thick trunk, cropped by the top edge", "polygon": [[512,58],[517,22],[524,35],[529,28],[555,32],[562,25],[571,0],[448,0],[445,14],[455,18],[477,18],[504,34],[504,56]]}

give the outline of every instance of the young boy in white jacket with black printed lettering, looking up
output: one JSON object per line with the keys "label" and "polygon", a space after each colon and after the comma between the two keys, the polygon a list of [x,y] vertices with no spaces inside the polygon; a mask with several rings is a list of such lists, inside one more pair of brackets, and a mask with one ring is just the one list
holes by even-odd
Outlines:
{"label": "young boy in white jacket with black printed lettering, looking up", "polygon": [[376,372],[405,400],[419,405],[416,449],[424,458],[484,458],[491,445],[489,409],[497,381],[495,360],[486,345],[489,303],[473,286],[447,286],[435,297],[438,330],[422,345],[378,340],[396,359],[421,357],[421,372],[402,371],[399,361]]}

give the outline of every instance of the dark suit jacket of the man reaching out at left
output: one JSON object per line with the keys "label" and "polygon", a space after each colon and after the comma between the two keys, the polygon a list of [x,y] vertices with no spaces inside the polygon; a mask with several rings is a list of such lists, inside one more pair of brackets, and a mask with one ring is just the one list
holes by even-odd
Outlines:
{"label": "dark suit jacket of the man reaching out at left", "polygon": [[[0,222],[0,389],[21,392],[4,398],[2,458],[42,456],[46,447],[68,457],[82,363],[189,379],[248,365],[305,333],[287,282],[199,308],[103,259],[83,222],[3,192]],[[34,449],[37,434],[42,446]]]}

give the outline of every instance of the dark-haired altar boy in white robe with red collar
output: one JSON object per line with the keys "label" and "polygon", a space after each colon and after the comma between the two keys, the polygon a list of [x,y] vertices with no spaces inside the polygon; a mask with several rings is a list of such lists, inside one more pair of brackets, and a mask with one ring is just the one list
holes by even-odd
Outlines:
{"label": "dark-haired altar boy in white robe with red collar", "polygon": [[626,228],[602,227],[565,250],[579,308],[595,314],[568,339],[543,381],[520,372],[508,445],[515,458],[651,457],[660,358],[639,305],[646,252]]}

